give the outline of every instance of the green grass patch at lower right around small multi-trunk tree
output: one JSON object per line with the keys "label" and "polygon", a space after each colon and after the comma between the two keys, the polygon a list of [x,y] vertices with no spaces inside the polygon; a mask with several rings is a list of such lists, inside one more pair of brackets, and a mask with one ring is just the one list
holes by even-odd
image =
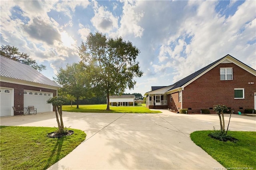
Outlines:
{"label": "green grass patch at lower right around small multi-trunk tree", "polygon": [[210,132],[196,131],[190,138],[225,168],[256,169],[256,132],[229,131],[238,139],[236,143],[213,139],[208,136]]}

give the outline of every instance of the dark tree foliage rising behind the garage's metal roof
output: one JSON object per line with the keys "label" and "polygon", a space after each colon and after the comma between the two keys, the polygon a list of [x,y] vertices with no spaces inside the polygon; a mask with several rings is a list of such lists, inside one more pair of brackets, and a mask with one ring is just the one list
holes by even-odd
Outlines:
{"label": "dark tree foliage rising behind the garage's metal roof", "polygon": [[46,69],[45,65],[36,63],[36,60],[31,59],[30,56],[26,53],[21,53],[17,47],[10,45],[2,45],[0,49],[0,54],[2,56],[8,57],[20,63],[30,65],[34,69],[38,71],[42,71]]}

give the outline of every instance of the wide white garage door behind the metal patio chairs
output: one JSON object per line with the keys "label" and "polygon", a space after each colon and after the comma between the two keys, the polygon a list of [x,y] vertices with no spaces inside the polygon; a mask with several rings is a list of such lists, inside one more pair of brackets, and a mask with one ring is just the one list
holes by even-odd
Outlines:
{"label": "wide white garage door behind the metal patio chairs", "polygon": [[52,93],[24,90],[24,107],[34,106],[37,113],[50,112],[52,105],[46,103],[50,97],[52,97]]}

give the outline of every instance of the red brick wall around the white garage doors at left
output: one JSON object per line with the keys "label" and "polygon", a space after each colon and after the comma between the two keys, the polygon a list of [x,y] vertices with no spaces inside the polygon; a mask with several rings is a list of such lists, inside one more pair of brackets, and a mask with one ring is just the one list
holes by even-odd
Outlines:
{"label": "red brick wall around the white garage doors at left", "polygon": [[[14,83],[6,83],[2,82],[0,83],[0,87],[8,87],[14,89],[14,107],[16,108],[23,108],[24,107],[24,90],[32,90],[32,91],[44,91],[44,92],[49,92],[53,93],[53,96],[57,95],[56,90],[52,89],[45,89],[41,87],[33,87],[33,86],[27,86],[27,85],[19,85],[19,84],[14,84]],[[20,107],[18,107],[20,106]],[[15,115],[17,113],[14,113]]]}

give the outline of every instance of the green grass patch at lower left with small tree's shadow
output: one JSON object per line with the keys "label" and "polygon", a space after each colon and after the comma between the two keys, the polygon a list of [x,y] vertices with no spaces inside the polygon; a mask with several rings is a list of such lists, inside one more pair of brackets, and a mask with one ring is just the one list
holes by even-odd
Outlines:
{"label": "green grass patch at lower left with small tree's shadow", "polygon": [[43,170],[70,153],[84,141],[86,134],[74,130],[74,134],[62,138],[49,138],[55,131],[49,127],[0,126],[0,169]]}

